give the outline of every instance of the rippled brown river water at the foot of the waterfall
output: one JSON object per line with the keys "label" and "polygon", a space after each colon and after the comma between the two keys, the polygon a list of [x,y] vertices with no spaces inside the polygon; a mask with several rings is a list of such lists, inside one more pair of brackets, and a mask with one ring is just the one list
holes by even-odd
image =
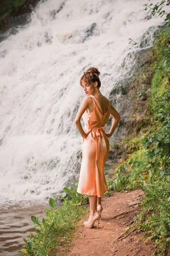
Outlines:
{"label": "rippled brown river water at the foot of the waterfall", "polygon": [[22,204],[0,209],[0,256],[16,256],[24,243],[35,229],[32,226],[31,215],[42,220],[45,217],[44,208],[47,204],[32,204],[21,207]]}

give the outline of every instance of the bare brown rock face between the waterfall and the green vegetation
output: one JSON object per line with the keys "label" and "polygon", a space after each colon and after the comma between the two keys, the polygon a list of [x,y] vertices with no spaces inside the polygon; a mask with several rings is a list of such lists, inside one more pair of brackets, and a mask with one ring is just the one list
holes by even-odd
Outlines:
{"label": "bare brown rock face between the waterfall and the green vegetation", "polygon": [[[131,140],[142,131],[147,130],[150,125],[152,115],[148,108],[147,96],[142,96],[140,100],[135,99],[135,94],[140,92],[141,85],[145,82],[150,87],[153,77],[153,67],[151,62],[151,50],[142,49],[135,53],[136,64],[134,73],[130,78],[119,81],[109,95],[109,100],[113,107],[119,112],[121,119],[110,140],[110,151],[108,160],[105,163],[105,173],[113,173],[115,168],[126,159],[126,143],[122,140]],[[145,80],[140,81],[140,78]],[[106,130],[111,128],[112,117],[110,116]]]}

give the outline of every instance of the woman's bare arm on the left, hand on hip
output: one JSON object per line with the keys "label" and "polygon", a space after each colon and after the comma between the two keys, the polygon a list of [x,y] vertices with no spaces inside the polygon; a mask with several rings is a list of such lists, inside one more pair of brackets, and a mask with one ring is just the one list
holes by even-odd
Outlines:
{"label": "woman's bare arm on the left, hand on hip", "polygon": [[91,132],[91,130],[90,131],[88,131],[88,133],[85,133],[85,131],[83,130],[83,128],[82,128],[82,125],[81,125],[81,122],[80,122],[80,119],[81,119],[81,117],[82,117],[82,114],[86,111],[86,109],[89,107],[89,105],[92,103],[91,102],[91,97],[85,97],[84,99],[83,99],[83,101],[82,101],[82,104],[81,104],[81,106],[80,106],[80,108],[79,108],[79,110],[78,110],[78,112],[77,112],[77,114],[76,114],[76,116],[75,116],[75,119],[74,119],[74,121],[75,121],[75,124],[76,124],[76,126],[77,126],[77,129],[78,129],[78,131],[79,131],[79,133],[81,134],[81,136],[83,137],[83,138],[85,138],[85,137],[87,137],[88,136],[88,134]]}

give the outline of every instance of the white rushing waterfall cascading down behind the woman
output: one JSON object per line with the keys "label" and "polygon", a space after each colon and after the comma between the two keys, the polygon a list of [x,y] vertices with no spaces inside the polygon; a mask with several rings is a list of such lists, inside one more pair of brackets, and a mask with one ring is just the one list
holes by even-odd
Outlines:
{"label": "white rushing waterfall cascading down behind the woman", "polygon": [[163,22],[148,18],[145,3],[48,0],[0,43],[1,204],[55,197],[77,175],[82,138],[74,117],[85,97],[79,79],[96,65],[108,96],[132,74],[135,60],[127,56],[140,48],[128,38],[140,44]]}

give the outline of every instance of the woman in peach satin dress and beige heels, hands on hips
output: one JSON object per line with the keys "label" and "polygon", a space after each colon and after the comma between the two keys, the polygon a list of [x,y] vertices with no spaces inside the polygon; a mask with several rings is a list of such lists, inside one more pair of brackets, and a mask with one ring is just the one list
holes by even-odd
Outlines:
{"label": "woman in peach satin dress and beige heels, hands on hips", "polygon": [[[104,175],[104,163],[109,153],[109,138],[112,136],[119,123],[120,115],[111,105],[109,100],[102,95],[99,88],[99,70],[90,67],[80,79],[87,97],[75,117],[75,124],[82,136],[82,163],[79,175],[77,192],[88,195],[90,202],[90,216],[84,222],[85,227],[94,227],[101,219],[101,198],[108,187]],[[113,116],[111,129],[105,133],[105,124]],[[85,122],[85,128],[80,123],[81,117]]]}

